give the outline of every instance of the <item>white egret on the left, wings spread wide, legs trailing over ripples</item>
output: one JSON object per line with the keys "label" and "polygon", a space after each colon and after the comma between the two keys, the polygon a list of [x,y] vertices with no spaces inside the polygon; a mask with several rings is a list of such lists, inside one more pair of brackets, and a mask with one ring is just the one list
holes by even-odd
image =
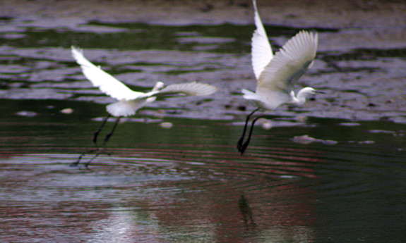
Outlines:
{"label": "white egret on the left, wings spread wide, legs trailing over ripples", "polygon": [[114,123],[112,131],[106,135],[104,142],[107,142],[112,136],[121,117],[133,116],[138,109],[155,101],[157,96],[165,96],[169,94],[204,96],[213,94],[217,91],[217,87],[200,82],[173,84],[168,85],[167,87],[164,87],[163,82],[157,82],[151,92],[135,92],[112,75],[109,75],[103,71],[100,66],[95,66],[94,64],[90,63],[90,61],[83,56],[83,51],[81,49],[77,49],[72,46],[72,56],[80,65],[80,68],[82,68],[83,75],[85,75],[85,77],[92,82],[92,85],[99,87],[103,93],[118,100],[117,102],[107,106],[107,112],[109,115],[107,118],[105,118],[105,120],[103,120],[102,125],[93,136],[93,142],[95,143],[96,147],[97,136],[105,126],[105,123],[110,116],[117,117],[117,120]]}

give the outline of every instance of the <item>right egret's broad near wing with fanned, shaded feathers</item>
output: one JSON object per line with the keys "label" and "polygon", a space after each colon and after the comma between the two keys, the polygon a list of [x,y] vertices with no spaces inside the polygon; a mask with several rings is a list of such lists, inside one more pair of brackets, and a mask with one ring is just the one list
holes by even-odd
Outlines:
{"label": "right egret's broad near wing with fanned, shaded feathers", "polygon": [[258,92],[292,92],[294,84],[313,65],[318,35],[302,30],[289,39],[265,67],[258,79]]}

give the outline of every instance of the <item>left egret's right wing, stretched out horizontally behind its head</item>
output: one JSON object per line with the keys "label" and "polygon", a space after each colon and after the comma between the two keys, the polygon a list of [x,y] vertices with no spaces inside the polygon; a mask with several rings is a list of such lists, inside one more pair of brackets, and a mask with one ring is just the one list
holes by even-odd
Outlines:
{"label": "left egret's right wing, stretched out horizontally behind its head", "polygon": [[217,91],[217,87],[213,85],[203,84],[201,82],[187,82],[183,84],[173,84],[160,89],[141,95],[139,98],[148,98],[150,96],[165,96],[169,94],[185,94],[189,96],[203,96],[213,94]]}

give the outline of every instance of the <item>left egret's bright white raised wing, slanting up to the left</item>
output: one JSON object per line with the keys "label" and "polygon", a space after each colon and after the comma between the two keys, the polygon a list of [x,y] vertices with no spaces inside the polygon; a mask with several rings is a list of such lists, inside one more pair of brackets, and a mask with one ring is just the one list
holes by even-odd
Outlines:
{"label": "left egret's bright white raised wing, slanting up to the left", "polygon": [[92,85],[99,87],[105,94],[119,100],[136,99],[143,94],[141,92],[134,92],[115,77],[103,71],[100,67],[90,63],[90,61],[83,56],[81,49],[76,49],[72,46],[72,56],[80,65],[80,68],[82,68],[83,75],[92,82]]}

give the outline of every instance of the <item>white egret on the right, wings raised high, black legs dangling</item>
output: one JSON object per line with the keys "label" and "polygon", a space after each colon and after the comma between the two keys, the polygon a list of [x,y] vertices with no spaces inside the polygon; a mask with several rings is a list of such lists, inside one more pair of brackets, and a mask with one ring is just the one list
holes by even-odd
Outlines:
{"label": "white egret on the right, wings raised high, black legs dangling", "polygon": [[308,96],[317,92],[314,88],[305,87],[295,96],[293,91],[297,80],[308,68],[313,66],[317,51],[317,33],[311,34],[304,30],[300,31],[274,55],[255,0],[253,0],[253,9],[256,30],[251,39],[251,62],[253,73],[258,82],[256,92],[246,89],[242,89],[242,92],[244,99],[253,101],[258,108],[246,118],[244,131],[237,143],[237,149],[241,154],[244,154],[251,139],[253,125],[258,120],[258,118],[253,120],[249,137],[243,144],[247,123],[253,113],[259,109],[272,111],[282,104],[300,106],[306,102]]}

